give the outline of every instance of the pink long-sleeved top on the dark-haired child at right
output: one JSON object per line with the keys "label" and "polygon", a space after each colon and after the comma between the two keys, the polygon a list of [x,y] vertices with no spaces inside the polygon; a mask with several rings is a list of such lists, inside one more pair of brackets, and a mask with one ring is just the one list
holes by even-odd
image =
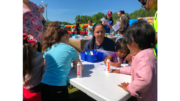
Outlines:
{"label": "pink long-sleeved top on the dark-haired child at right", "polygon": [[132,82],[127,88],[138,101],[157,101],[157,59],[151,48],[136,54],[132,65],[120,71],[131,75]]}

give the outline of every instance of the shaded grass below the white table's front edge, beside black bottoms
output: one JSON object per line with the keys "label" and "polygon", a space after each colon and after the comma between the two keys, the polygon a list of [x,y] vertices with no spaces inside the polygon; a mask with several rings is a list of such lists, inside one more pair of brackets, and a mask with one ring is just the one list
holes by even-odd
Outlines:
{"label": "shaded grass below the white table's front edge, beside black bottoms", "polygon": [[70,101],[96,101],[72,85],[69,85],[68,91]]}

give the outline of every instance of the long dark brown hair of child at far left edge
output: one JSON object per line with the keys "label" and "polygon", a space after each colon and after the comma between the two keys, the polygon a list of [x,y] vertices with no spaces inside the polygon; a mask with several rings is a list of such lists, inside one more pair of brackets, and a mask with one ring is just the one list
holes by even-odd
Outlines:
{"label": "long dark brown hair of child at far left edge", "polygon": [[27,40],[23,41],[23,80],[25,81],[25,76],[27,74],[31,74],[32,66],[33,66],[33,55],[34,55],[34,47],[31,47]]}

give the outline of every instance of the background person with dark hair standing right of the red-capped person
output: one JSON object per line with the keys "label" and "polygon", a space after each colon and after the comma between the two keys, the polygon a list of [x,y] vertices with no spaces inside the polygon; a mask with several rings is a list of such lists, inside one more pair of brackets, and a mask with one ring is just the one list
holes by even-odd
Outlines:
{"label": "background person with dark hair standing right of the red-capped person", "polygon": [[[118,30],[118,34],[120,35],[118,38],[116,38],[116,41],[120,38],[124,38],[124,33],[127,31],[128,27],[129,27],[129,19],[125,14],[122,14],[119,18],[120,21],[120,28]],[[115,42],[116,42],[115,41]]]}

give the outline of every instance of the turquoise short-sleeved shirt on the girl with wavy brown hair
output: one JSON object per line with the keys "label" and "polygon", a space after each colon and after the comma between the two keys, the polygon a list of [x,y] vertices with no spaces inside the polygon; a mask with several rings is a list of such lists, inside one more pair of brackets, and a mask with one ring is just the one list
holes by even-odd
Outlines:
{"label": "turquoise short-sleeved shirt on the girl with wavy brown hair", "polygon": [[46,69],[41,82],[66,86],[71,62],[79,58],[77,51],[65,43],[56,43],[44,52],[43,58],[46,60]]}

